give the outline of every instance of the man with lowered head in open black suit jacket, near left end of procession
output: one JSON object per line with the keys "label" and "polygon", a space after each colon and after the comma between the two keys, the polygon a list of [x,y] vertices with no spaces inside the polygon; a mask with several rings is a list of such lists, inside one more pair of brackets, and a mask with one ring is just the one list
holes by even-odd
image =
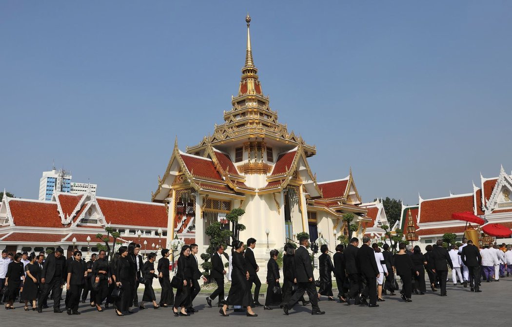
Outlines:
{"label": "man with lowered head in open black suit jacket, near left end of procession", "polygon": [[37,312],[41,313],[41,304],[45,298],[48,297],[50,291],[53,297],[53,312],[61,313],[60,310],[60,287],[64,284],[66,278],[65,266],[66,260],[62,256],[64,250],[57,248],[53,253],[50,253],[46,258],[45,265],[42,267],[41,272],[41,295],[37,302]]}

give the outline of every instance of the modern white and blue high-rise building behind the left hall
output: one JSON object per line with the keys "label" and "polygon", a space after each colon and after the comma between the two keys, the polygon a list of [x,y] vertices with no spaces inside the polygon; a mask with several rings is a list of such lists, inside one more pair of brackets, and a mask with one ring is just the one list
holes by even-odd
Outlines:
{"label": "modern white and blue high-rise building behind the left hall", "polygon": [[90,187],[96,194],[96,184],[72,183],[71,172],[64,169],[56,169],[42,172],[39,180],[39,200],[51,201],[53,192],[73,193],[85,192]]}

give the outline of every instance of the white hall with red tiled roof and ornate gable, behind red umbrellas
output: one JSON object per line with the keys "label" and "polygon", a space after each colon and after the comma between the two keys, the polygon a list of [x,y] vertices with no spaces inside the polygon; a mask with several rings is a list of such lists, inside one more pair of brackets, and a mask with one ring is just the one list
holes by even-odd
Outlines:
{"label": "white hall with red tiled roof and ornate gable, behind red umbrellas", "polygon": [[[400,228],[407,228],[408,212],[414,217],[418,242],[421,245],[433,244],[445,233],[457,235],[460,242],[466,223],[452,219],[452,213],[469,211],[481,217],[486,224],[499,223],[512,228],[512,176],[503,167],[498,177],[480,176],[480,187],[473,184],[473,192],[451,194],[447,197],[422,199],[416,206],[403,206]],[[477,227],[477,226],[473,226]],[[512,238],[498,238],[498,243],[510,243]]]}

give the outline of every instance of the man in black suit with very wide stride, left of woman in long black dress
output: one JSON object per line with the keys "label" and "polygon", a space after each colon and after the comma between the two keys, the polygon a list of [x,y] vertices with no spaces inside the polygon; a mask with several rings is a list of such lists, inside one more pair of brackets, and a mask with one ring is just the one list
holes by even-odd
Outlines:
{"label": "man in black suit with very wide stride, left of woman in long black dress", "polygon": [[284,312],[288,315],[288,311],[293,308],[297,301],[308,292],[311,306],[313,307],[312,315],[323,315],[325,311],[320,311],[318,308],[318,293],[313,280],[313,266],[311,265],[311,258],[307,247],[309,246],[309,238],[302,236],[298,239],[301,246],[295,251],[295,269],[297,278],[297,291],[291,296],[288,303],[284,303]]}

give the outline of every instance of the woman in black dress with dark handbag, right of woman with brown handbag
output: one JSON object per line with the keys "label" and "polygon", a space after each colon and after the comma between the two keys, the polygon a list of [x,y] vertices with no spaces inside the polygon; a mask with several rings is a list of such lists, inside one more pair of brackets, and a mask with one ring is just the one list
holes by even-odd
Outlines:
{"label": "woman in black dress with dark handbag, right of woman with brown handbag", "polygon": [[133,303],[133,290],[135,288],[135,270],[128,259],[128,248],[122,246],[118,250],[119,258],[116,262],[116,286],[122,288],[121,298],[116,303],[116,315],[124,316],[123,312],[130,313]]}

